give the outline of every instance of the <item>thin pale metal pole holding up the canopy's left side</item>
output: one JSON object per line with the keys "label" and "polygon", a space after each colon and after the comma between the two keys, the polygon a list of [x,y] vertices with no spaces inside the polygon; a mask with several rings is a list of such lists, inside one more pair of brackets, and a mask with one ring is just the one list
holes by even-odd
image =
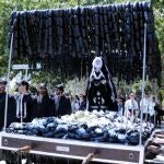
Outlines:
{"label": "thin pale metal pole holding up the canopy's left side", "polygon": [[10,54],[9,54],[9,63],[8,63],[8,75],[7,75],[7,94],[5,94],[5,110],[4,110],[4,127],[3,130],[7,129],[7,115],[8,115],[8,95],[9,95],[9,83],[10,83],[10,70],[11,70],[11,56],[12,56],[12,46],[13,46],[13,33],[11,35],[10,42]]}

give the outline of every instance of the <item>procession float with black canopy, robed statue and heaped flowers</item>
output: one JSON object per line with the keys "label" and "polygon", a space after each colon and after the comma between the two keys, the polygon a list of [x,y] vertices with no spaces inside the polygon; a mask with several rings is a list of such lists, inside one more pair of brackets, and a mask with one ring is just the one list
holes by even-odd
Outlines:
{"label": "procession float with black canopy, robed statue and heaped flowers", "polygon": [[[35,118],[32,122],[23,122],[22,110],[22,121],[7,128],[7,98],[1,155],[11,161],[24,156],[36,163],[60,157],[83,164],[142,164],[154,126],[143,121],[142,112],[140,118],[116,115],[112,77],[127,82],[142,79],[142,96],[145,74],[160,79],[153,21],[150,2],[13,11],[8,83],[14,59],[27,58],[33,67],[39,61],[44,70],[61,68],[67,75],[86,75],[87,105],[84,112]],[[84,73],[89,70],[90,75]]]}

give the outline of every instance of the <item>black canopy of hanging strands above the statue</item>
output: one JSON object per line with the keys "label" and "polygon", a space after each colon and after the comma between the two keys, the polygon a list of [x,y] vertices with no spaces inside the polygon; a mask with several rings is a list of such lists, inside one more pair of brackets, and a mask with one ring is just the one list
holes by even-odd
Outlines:
{"label": "black canopy of hanging strands above the statue", "polygon": [[112,74],[129,82],[142,75],[144,23],[147,73],[160,79],[161,57],[149,2],[16,11],[8,40],[14,33],[13,58],[39,59],[43,68],[60,67],[70,74],[81,72],[81,67],[86,72],[94,56],[103,54]]}

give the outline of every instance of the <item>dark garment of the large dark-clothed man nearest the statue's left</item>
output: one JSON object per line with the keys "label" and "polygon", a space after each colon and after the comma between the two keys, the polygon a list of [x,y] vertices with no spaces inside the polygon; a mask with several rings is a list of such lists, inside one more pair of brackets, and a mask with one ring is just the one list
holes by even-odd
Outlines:
{"label": "dark garment of the large dark-clothed man nearest the statue's left", "polygon": [[56,109],[56,116],[63,116],[71,114],[71,103],[70,99],[65,95],[60,97],[59,107]]}

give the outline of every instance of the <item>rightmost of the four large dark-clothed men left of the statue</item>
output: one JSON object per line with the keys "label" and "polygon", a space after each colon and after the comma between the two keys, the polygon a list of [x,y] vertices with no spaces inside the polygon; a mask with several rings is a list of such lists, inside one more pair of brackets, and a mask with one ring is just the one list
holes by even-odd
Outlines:
{"label": "rightmost of the four large dark-clothed men left of the statue", "polygon": [[70,98],[67,98],[63,93],[65,93],[63,84],[57,85],[55,91],[55,104],[57,117],[71,114]]}

